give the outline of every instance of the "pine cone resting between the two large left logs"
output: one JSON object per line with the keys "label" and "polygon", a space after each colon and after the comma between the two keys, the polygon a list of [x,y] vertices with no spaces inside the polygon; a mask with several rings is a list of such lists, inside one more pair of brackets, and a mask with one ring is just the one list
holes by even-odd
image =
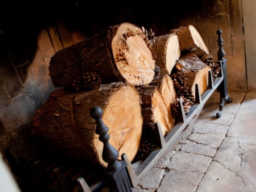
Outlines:
{"label": "pine cone resting between the two large left logs", "polygon": [[73,87],[76,91],[90,91],[98,88],[102,78],[95,72],[86,72],[74,80]]}

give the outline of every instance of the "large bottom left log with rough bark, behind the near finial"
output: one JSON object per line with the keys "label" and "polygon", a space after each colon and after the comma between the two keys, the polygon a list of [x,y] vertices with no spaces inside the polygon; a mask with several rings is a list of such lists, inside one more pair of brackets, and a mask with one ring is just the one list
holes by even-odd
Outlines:
{"label": "large bottom left log with rough bark, behind the near finial", "polygon": [[34,117],[32,134],[69,156],[106,166],[102,160],[103,143],[90,117],[94,106],[103,110],[110,144],[132,161],[142,134],[142,115],[140,94],[128,83],[104,84],[90,92],[52,92]]}

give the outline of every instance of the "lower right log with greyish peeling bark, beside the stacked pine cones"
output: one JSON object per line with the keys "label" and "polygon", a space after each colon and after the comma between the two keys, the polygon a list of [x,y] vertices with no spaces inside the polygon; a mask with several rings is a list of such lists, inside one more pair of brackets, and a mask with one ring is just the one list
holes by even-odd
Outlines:
{"label": "lower right log with greyish peeling bark, beside the stacked pine cones", "polygon": [[182,55],[175,64],[176,72],[186,76],[183,80],[185,87],[192,90],[192,95],[195,96],[196,83],[199,84],[200,94],[202,95],[208,87],[208,72],[211,68],[204,64],[194,54]]}

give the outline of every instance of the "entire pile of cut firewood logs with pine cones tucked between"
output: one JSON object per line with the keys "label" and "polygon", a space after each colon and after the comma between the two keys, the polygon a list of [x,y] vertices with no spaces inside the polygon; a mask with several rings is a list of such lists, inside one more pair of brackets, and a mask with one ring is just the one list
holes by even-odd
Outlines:
{"label": "entire pile of cut firewood logs with pine cones tucked between", "polygon": [[188,113],[195,84],[201,94],[207,89],[209,70],[216,77],[220,68],[193,26],[158,37],[129,23],[112,26],[52,57],[50,76],[62,88],[37,111],[32,134],[70,156],[106,166],[89,114],[100,106],[110,144],[130,161],[145,158],[156,147],[154,123],[166,136],[177,123],[178,102]]}

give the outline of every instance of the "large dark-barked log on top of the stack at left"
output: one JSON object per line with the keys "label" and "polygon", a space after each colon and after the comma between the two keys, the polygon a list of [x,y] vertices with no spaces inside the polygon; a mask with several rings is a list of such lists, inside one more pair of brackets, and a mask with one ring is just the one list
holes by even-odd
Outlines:
{"label": "large dark-barked log on top of the stack at left", "polygon": [[145,85],[154,78],[154,58],[142,29],[123,23],[56,52],[49,71],[56,87],[70,88],[82,72],[96,72],[103,83]]}

